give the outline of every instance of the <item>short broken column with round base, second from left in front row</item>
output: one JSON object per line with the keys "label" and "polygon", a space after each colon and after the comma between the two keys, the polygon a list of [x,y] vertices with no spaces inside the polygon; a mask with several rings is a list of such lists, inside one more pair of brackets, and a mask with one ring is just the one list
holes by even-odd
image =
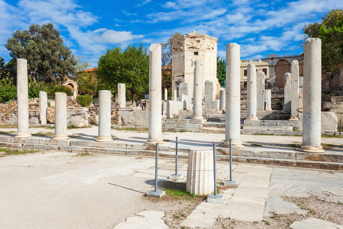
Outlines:
{"label": "short broken column with round base, second from left in front row", "polygon": [[67,94],[55,92],[55,135],[52,139],[68,139],[67,135]]}

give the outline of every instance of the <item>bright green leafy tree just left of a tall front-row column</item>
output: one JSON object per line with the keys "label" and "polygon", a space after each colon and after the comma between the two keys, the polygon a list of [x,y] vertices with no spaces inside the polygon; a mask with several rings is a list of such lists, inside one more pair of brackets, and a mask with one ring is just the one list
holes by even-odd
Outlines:
{"label": "bright green leafy tree just left of a tall front-row column", "polygon": [[141,98],[149,88],[149,56],[146,50],[142,44],[138,48],[128,46],[124,51],[119,47],[108,49],[98,61],[96,73],[101,83],[111,88],[125,83],[132,103],[135,95]]}

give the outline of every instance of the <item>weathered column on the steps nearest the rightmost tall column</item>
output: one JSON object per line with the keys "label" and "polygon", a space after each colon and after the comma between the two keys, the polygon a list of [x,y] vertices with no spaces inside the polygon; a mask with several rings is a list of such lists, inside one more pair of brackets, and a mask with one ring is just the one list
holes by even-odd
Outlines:
{"label": "weathered column on the steps nearest the rightmost tall column", "polygon": [[293,60],[291,64],[291,119],[298,121],[299,114],[299,62]]}

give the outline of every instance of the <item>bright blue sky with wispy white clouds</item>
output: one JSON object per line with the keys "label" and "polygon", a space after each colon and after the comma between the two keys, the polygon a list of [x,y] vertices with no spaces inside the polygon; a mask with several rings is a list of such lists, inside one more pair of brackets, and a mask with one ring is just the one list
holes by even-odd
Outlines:
{"label": "bright blue sky with wispy white clouds", "polygon": [[0,0],[0,56],[12,33],[30,24],[53,23],[76,56],[97,65],[106,49],[166,42],[171,34],[217,37],[218,56],[226,43],[241,47],[241,59],[300,54],[304,24],[320,22],[342,0]]}

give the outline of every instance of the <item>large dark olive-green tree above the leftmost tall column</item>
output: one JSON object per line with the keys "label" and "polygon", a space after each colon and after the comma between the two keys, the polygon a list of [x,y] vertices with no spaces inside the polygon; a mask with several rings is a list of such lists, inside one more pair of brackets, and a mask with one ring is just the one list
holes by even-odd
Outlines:
{"label": "large dark olive-green tree above the leftmost tall column", "polygon": [[[57,83],[74,72],[74,56],[63,45],[63,39],[53,24],[44,24],[42,27],[33,24],[28,30],[17,30],[12,36],[5,44],[12,60],[26,59],[28,72],[38,72],[39,80]],[[34,75],[31,77],[36,80]]]}

